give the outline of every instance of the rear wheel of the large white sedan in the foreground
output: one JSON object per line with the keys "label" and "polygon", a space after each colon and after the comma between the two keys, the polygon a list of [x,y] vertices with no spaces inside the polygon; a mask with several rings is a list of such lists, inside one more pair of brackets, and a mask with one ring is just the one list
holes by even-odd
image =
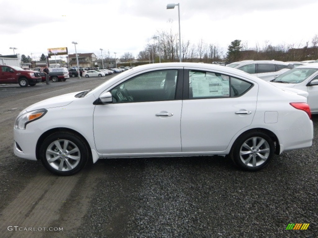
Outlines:
{"label": "rear wheel of the large white sedan in the foreground", "polygon": [[275,145],[262,131],[250,131],[234,142],[230,153],[233,162],[241,169],[258,171],[273,158]]}

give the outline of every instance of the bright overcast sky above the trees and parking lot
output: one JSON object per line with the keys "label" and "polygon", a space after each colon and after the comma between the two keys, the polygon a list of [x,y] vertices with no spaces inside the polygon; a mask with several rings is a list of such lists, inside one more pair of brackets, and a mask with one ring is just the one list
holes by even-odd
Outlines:
{"label": "bright overcast sky above the trees and parking lot", "polygon": [[318,34],[317,0],[0,0],[0,54],[13,54],[10,47],[30,57],[59,47],[72,54],[75,41],[78,53],[136,57],[157,31],[178,33],[178,9],[168,3],[180,3],[181,40],[225,52],[236,39],[304,45]]}

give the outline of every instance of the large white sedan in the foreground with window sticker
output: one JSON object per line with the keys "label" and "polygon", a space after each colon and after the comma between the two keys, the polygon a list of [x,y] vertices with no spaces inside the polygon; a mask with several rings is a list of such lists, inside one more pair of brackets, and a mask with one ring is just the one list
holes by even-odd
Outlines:
{"label": "large white sedan in the foreground with window sticker", "polygon": [[312,145],[306,102],[229,67],[147,64],[24,109],[14,124],[14,153],[57,175],[101,158],[200,155],[229,155],[256,171],[274,153]]}

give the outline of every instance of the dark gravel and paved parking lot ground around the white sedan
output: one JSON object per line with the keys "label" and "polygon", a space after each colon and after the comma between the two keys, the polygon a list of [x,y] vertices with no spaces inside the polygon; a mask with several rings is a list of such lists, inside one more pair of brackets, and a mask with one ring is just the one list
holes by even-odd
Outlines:
{"label": "dark gravel and paved parking lot ground around the white sedan", "polygon": [[[318,236],[318,115],[312,147],[275,156],[259,172],[201,156],[99,160],[58,177],[13,154],[21,110],[110,77],[0,85],[1,237]],[[289,223],[309,226],[286,230]]]}

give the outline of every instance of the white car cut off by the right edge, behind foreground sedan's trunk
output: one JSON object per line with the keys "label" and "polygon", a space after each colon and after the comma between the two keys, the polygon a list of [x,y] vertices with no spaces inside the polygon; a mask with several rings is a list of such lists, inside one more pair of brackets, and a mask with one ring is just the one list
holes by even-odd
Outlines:
{"label": "white car cut off by the right edge, behind foreground sedan's trunk", "polygon": [[269,82],[280,88],[300,89],[308,92],[308,104],[318,114],[318,63],[298,66]]}

